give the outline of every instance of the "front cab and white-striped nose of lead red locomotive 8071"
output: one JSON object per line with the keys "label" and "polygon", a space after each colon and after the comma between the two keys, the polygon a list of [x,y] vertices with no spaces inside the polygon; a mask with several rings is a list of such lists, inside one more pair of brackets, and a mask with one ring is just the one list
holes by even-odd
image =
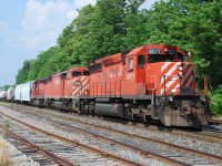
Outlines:
{"label": "front cab and white-striped nose of lead red locomotive 8071", "polygon": [[152,120],[165,126],[208,124],[210,102],[206,77],[204,93],[198,94],[190,55],[176,46],[163,44],[133,51],[125,61],[125,93],[134,94],[140,111],[138,114],[150,114]]}

